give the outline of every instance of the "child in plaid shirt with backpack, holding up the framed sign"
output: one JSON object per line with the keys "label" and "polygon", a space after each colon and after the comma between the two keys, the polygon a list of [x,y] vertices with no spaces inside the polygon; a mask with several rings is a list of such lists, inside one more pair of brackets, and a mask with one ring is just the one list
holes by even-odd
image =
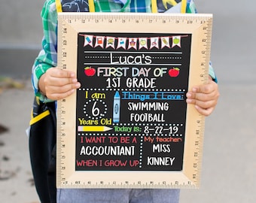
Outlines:
{"label": "child in plaid shirt with backpack, holding up the framed sign", "polygon": [[[41,12],[43,49],[32,68],[32,84],[37,98],[33,116],[46,111],[52,115],[50,121],[42,124],[47,128],[41,128],[40,132],[32,128],[29,140],[32,171],[41,202],[177,203],[179,189],[58,189],[56,195],[54,101],[66,98],[81,86],[75,73],[54,68],[57,65],[57,12],[61,11],[196,13],[193,0],[47,0]],[[197,111],[205,116],[212,114],[218,102],[218,84],[215,79],[210,65],[209,83],[194,86],[192,91],[187,92],[187,103],[194,104]],[[42,135],[39,137],[43,140],[38,141],[37,133]]]}

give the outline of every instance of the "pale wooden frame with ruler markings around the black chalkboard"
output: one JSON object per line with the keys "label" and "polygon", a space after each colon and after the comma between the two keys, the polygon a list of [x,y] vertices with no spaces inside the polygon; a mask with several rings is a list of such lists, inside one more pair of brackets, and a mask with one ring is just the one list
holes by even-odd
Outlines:
{"label": "pale wooden frame with ruler markings around the black chalkboard", "polygon": [[[76,72],[79,32],[192,34],[188,89],[208,83],[212,14],[61,13],[58,67]],[[58,188],[199,188],[205,118],[187,105],[182,171],[75,171],[76,93],[57,104]]]}

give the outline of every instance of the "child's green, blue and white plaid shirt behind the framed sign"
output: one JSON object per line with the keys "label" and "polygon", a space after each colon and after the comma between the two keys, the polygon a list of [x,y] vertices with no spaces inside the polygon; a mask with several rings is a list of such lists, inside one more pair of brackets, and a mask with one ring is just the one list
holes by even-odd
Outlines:
{"label": "child's green, blue and white plaid shirt behind the framed sign", "polygon": [[[84,12],[79,8],[79,4],[87,4],[83,0],[62,0],[62,10],[69,9],[74,12]],[[173,5],[173,1],[157,0],[158,12],[179,13],[181,11],[181,0],[176,0],[178,4]],[[145,12],[151,13],[151,0],[94,0],[96,12]],[[84,7],[87,8],[87,7]],[[75,9],[75,10],[74,10]],[[86,9],[85,9],[86,11]],[[187,13],[196,13],[193,0],[187,0]],[[42,40],[42,50],[35,59],[32,67],[32,86],[35,95],[39,97],[41,102],[51,102],[38,89],[38,80],[48,68],[57,65],[57,12],[55,0],[47,0],[41,11],[43,21],[44,38]],[[210,75],[215,78],[214,71],[210,65]]]}

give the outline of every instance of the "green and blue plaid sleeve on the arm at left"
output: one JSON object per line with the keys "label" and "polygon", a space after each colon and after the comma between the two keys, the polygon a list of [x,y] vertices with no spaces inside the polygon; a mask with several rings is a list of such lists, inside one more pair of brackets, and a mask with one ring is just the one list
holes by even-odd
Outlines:
{"label": "green and blue plaid sleeve on the arm at left", "polygon": [[55,1],[50,0],[44,3],[41,11],[41,19],[44,29],[42,49],[32,66],[32,86],[35,95],[41,102],[52,102],[45,95],[42,95],[38,88],[38,80],[49,68],[57,65],[57,13]]}

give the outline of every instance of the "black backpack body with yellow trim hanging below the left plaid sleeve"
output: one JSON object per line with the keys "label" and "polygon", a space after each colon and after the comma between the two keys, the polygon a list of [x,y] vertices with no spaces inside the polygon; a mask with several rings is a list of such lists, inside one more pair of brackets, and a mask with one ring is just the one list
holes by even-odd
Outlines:
{"label": "black backpack body with yellow trim hanging below the left plaid sleeve", "polygon": [[41,203],[56,202],[56,105],[34,98],[29,130],[29,155]]}

